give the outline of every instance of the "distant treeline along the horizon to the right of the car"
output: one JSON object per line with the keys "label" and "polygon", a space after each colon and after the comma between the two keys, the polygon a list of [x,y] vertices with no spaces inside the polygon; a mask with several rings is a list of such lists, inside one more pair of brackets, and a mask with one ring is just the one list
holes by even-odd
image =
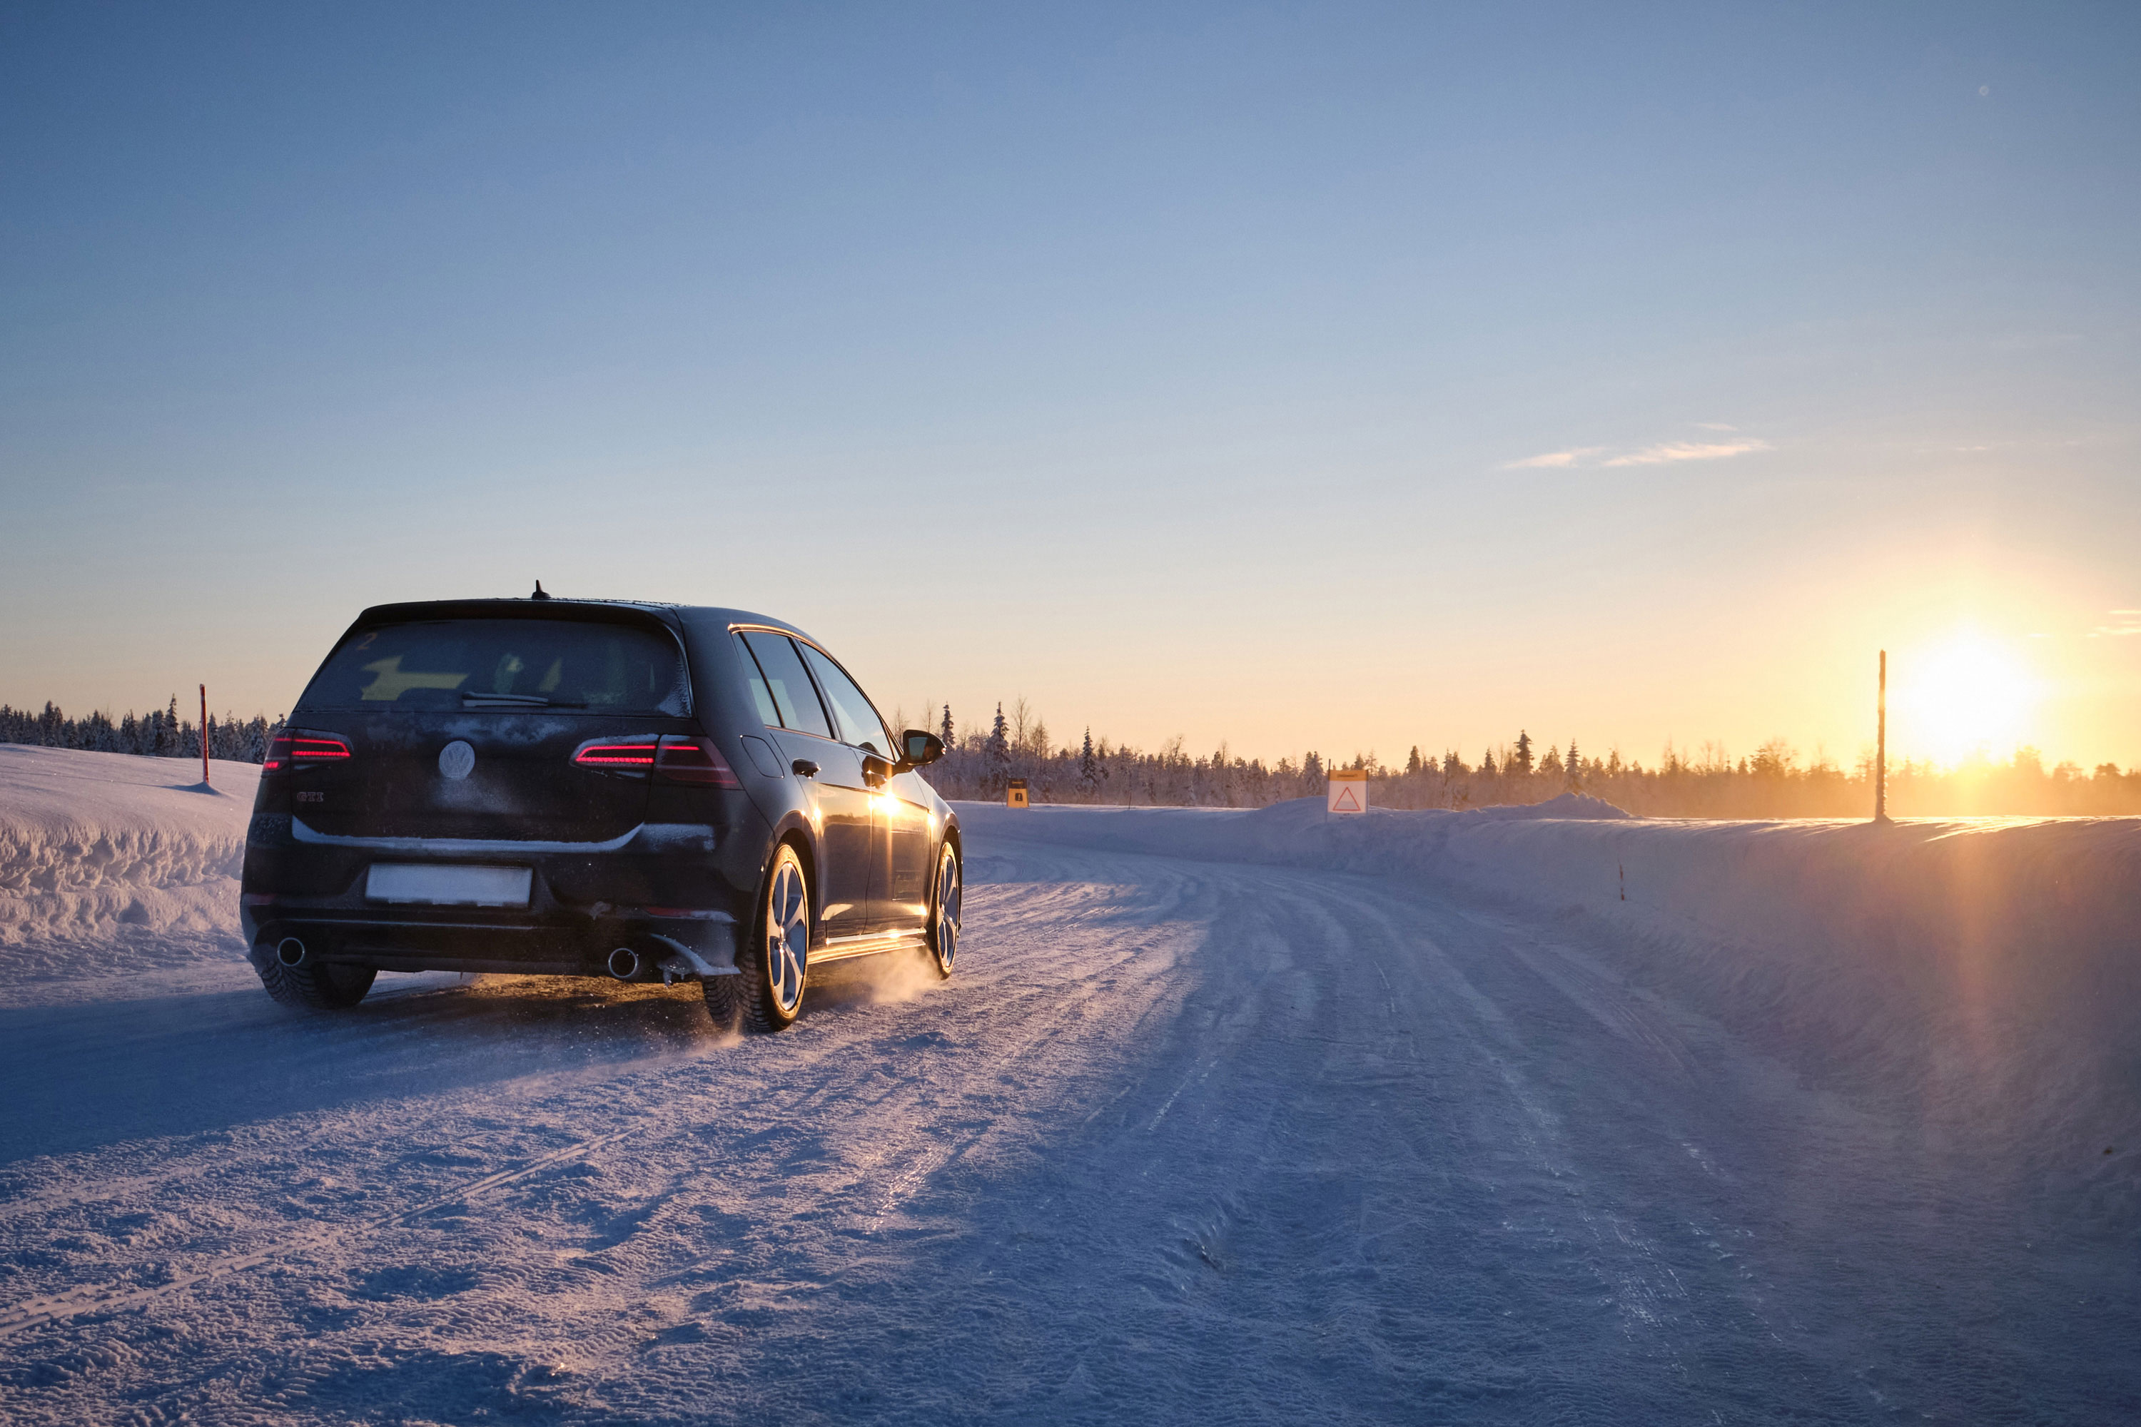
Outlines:
{"label": "distant treeline along the horizon to the right of the car", "polygon": [[[1034,802],[1126,802],[1139,807],[1265,807],[1287,798],[1323,796],[1330,768],[1368,772],[1370,807],[1469,809],[1546,802],[1565,792],[1604,798],[1640,817],[1867,817],[1873,811],[1873,768],[1839,768],[1826,757],[1801,762],[1781,738],[1749,757],[1728,757],[1719,745],[1696,753],[1666,751],[1653,766],[1623,759],[1619,751],[1593,757],[1578,745],[1539,747],[1529,732],[1488,749],[1479,764],[1456,751],[1441,757],[1415,747],[1392,768],[1372,753],[1347,762],[1310,751],[1302,762],[1265,764],[1231,757],[1225,749],[1190,753],[1180,738],[1156,753],[1094,740],[1051,745],[1047,723],[1023,700],[1006,717],[998,706],[987,730],[959,734],[942,710],[938,736],[944,759],[927,777],[946,798],[1004,796],[1011,779],[1026,779]],[[2120,772],[2100,764],[2047,768],[2036,749],[2017,749],[2000,764],[1987,757],[1940,768],[1931,762],[1888,766],[1893,817],[2075,817],[2141,813],[2141,770]]]}

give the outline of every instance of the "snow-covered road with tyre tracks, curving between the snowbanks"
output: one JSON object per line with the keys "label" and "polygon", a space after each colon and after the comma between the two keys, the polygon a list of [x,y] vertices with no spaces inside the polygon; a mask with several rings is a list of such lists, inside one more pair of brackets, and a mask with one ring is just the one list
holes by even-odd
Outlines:
{"label": "snow-covered road with tyre tracks, curving between the snowbanks", "polygon": [[1593,926],[1047,837],[974,819],[957,980],[777,1038],[242,965],[0,1010],[0,1418],[2141,1418],[2130,1234]]}

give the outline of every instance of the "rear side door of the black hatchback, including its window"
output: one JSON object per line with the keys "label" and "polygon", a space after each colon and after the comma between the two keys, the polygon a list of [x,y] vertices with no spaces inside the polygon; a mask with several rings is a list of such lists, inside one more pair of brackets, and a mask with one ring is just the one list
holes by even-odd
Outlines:
{"label": "rear side door of the black hatchback, including its window", "polygon": [[[794,640],[771,629],[737,635],[764,680],[764,702],[779,723],[766,734],[779,745],[781,762],[807,762],[818,770],[803,779],[818,822],[818,935],[844,941],[876,929],[871,899],[880,862],[876,794],[863,781],[863,755],[839,740],[816,685],[803,670]],[[749,670],[747,670],[749,672]],[[751,689],[756,700],[760,689]]]}

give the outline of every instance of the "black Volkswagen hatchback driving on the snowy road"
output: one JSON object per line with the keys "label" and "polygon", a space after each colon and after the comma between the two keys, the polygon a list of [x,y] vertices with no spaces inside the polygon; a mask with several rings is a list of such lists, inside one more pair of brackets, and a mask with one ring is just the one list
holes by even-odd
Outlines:
{"label": "black Volkswagen hatchback driving on the snowy road", "polygon": [[379,971],[698,980],[781,1029],[811,967],[951,976],[959,822],[824,648],[741,610],[462,599],[358,616],[261,772],[240,911],[285,1006]]}

